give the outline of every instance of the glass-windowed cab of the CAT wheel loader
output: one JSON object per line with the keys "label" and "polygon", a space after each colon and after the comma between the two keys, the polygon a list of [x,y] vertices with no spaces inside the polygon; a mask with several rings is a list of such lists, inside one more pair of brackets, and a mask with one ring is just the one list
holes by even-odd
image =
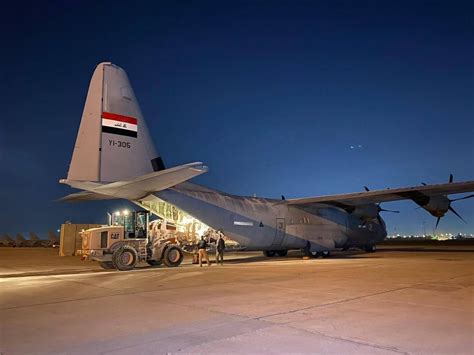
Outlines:
{"label": "glass-windowed cab of the CAT wheel loader", "polygon": [[128,210],[109,214],[109,225],[122,226],[124,238],[146,238],[148,236],[149,213],[147,211]]}

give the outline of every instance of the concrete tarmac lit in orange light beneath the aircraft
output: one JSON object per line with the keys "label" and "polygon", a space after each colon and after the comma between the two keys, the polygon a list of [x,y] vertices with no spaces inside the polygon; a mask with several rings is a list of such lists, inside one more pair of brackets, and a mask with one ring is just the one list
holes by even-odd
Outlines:
{"label": "concrete tarmac lit in orange light beneath the aircraft", "polygon": [[472,249],[129,272],[56,253],[0,248],[0,353],[474,353]]}

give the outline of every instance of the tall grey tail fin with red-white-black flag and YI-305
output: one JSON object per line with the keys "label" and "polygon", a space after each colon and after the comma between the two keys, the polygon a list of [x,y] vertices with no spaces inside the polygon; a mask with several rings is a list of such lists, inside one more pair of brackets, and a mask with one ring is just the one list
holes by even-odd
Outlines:
{"label": "tall grey tail fin with red-white-black flag and YI-305", "polygon": [[97,65],[67,180],[115,182],[163,170],[126,72]]}

